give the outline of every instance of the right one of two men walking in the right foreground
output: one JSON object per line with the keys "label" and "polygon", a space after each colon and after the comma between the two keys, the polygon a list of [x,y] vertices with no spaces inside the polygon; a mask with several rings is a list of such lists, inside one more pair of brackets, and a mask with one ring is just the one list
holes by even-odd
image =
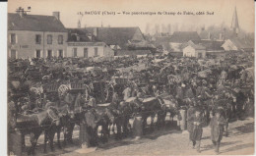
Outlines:
{"label": "right one of two men walking in the right foreground", "polygon": [[215,112],[214,117],[211,119],[211,139],[215,146],[216,154],[219,154],[221,140],[223,139],[225,120],[222,116],[221,110]]}

